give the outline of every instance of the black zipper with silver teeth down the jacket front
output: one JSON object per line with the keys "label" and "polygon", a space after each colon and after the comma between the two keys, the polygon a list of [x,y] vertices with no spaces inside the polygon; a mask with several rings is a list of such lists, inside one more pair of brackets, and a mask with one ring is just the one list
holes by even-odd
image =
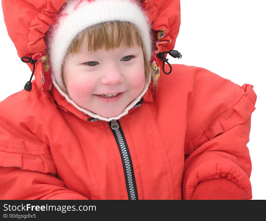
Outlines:
{"label": "black zipper with silver teeth down the jacket front", "polygon": [[118,120],[109,121],[109,125],[110,128],[112,129],[112,132],[114,134],[121,155],[124,174],[125,174],[125,182],[128,191],[128,199],[138,200],[137,185],[136,185],[132,160],[128,149],[128,144],[125,140],[125,135]]}

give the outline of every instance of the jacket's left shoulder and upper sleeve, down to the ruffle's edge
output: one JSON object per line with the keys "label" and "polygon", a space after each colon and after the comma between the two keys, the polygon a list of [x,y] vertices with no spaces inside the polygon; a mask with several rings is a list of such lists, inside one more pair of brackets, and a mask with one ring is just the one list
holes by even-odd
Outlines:
{"label": "jacket's left shoulder and upper sleeve, down to the ruffle's edge", "polygon": [[0,102],[0,166],[56,173],[47,132],[51,108],[56,107],[35,84]]}

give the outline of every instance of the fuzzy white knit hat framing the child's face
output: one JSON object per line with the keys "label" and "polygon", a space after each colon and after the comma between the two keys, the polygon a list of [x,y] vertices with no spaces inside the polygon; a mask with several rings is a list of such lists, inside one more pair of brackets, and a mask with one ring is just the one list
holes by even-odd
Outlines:
{"label": "fuzzy white knit hat framing the child's face", "polygon": [[67,50],[76,35],[88,27],[108,21],[133,23],[138,28],[143,48],[150,61],[152,54],[151,26],[148,16],[144,10],[141,10],[141,3],[138,0],[67,0],[60,10],[56,23],[50,27],[47,36],[47,54],[49,55],[54,86],[77,109],[94,118],[106,121],[119,119],[140,101],[148,89],[151,73],[149,73],[148,83],[145,84],[142,93],[126,107],[123,113],[117,117],[105,118],[79,107],[71,100],[63,84],[62,65]]}

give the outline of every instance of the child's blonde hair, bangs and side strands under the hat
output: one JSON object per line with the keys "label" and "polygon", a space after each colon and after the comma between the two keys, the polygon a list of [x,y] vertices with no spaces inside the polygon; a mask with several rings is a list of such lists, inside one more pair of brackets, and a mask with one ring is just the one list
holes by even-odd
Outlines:
{"label": "child's blonde hair, bangs and side strands under the hat", "polygon": [[[108,28],[111,31],[108,31]],[[116,38],[114,39],[114,32]],[[148,61],[146,52],[143,48],[138,28],[131,22],[126,21],[109,21],[94,25],[80,32],[72,41],[67,53],[76,54],[79,52],[84,37],[87,36],[88,51],[97,51],[103,46],[105,50],[118,48],[121,44],[131,47],[134,45],[134,39],[138,46],[141,46],[144,55],[144,70],[146,83],[148,75],[151,72],[151,81],[153,87],[157,87],[156,74],[152,70],[151,63]]]}

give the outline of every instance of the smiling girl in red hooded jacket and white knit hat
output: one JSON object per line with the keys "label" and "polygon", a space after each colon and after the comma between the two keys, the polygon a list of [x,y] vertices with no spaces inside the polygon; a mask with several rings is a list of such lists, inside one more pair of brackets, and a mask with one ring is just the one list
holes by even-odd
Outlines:
{"label": "smiling girl in red hooded jacket and white knit hat", "polygon": [[179,1],[2,5],[35,80],[0,103],[1,199],[252,198],[253,85],[169,64]]}

